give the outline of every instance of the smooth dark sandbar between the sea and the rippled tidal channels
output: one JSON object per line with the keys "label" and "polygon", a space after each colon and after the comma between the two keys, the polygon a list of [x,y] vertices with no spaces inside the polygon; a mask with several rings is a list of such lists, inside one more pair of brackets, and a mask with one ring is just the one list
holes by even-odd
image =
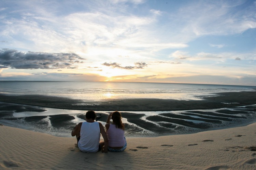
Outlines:
{"label": "smooth dark sandbar between the sea and the rippled tidal channels", "polygon": [[220,92],[213,95],[200,96],[202,100],[110,99],[108,101],[86,102],[55,96],[0,94],[0,102],[70,110],[140,112],[211,109],[256,104],[256,91]]}

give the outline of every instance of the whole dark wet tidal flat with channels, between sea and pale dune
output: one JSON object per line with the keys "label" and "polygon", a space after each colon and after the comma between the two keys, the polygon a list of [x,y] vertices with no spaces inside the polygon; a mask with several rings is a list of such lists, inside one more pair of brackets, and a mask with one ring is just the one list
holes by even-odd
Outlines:
{"label": "whole dark wet tidal flat with channels, between sea and pale dune", "polygon": [[[54,136],[70,137],[88,110],[101,115],[120,111],[127,137],[190,134],[248,125],[256,119],[256,92],[222,92],[201,100],[109,99],[92,102],[44,95],[0,95],[0,123]],[[18,104],[17,104],[18,103]]]}

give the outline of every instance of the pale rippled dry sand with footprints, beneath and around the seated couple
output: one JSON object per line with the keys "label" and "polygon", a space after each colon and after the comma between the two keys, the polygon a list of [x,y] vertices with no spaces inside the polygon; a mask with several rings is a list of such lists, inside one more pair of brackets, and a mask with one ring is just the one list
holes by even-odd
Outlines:
{"label": "pale rippled dry sand with footprints, beneath and around the seated couple", "polygon": [[0,169],[256,169],[256,151],[246,148],[256,147],[256,123],[189,135],[127,138],[127,149],[118,153],[83,153],[75,148],[75,137],[8,126],[0,126],[0,134]]}

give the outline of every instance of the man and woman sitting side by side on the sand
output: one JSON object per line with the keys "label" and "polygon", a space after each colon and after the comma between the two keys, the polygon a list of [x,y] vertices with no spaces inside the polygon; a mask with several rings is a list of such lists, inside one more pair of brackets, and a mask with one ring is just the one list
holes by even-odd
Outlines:
{"label": "man and woman sitting side by side on the sand", "polygon": [[[112,124],[110,118],[112,116]],[[106,121],[106,132],[100,122],[95,121],[94,111],[86,112],[86,121],[78,123],[71,132],[76,136],[77,146],[82,152],[120,152],[126,149],[125,125],[122,123],[121,114],[117,111],[109,114]],[[100,141],[100,134],[104,141]],[[104,149],[103,149],[103,146]]]}

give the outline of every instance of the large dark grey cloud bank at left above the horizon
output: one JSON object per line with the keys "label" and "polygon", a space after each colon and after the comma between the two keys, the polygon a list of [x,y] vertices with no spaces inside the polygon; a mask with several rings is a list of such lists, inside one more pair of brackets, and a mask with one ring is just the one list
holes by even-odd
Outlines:
{"label": "large dark grey cloud bank at left above the horizon", "polygon": [[84,60],[75,53],[45,53],[45,52],[19,52],[14,49],[0,50],[1,68],[16,69],[74,69],[75,63]]}

